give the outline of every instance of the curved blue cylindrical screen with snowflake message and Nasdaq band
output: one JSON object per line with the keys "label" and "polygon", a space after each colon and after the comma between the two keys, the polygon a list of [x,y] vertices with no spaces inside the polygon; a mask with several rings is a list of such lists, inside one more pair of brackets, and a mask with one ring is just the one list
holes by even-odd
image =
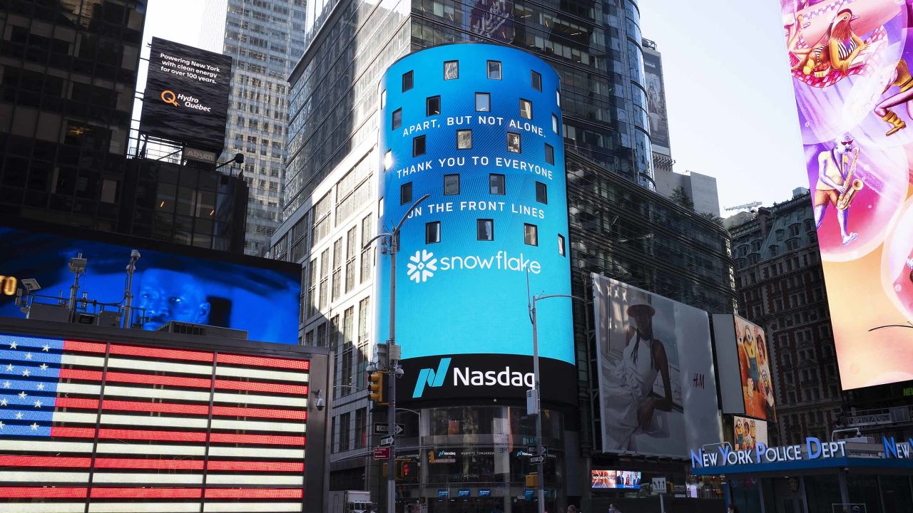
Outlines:
{"label": "curved blue cylindrical screen with snowflake message and Nasdaq band", "polygon": [[[397,254],[397,401],[522,402],[532,388],[527,279],[533,294],[571,293],[559,89],[540,58],[488,44],[428,48],[384,75],[380,225],[430,194]],[[538,326],[541,399],[573,402],[571,299],[540,301]]]}

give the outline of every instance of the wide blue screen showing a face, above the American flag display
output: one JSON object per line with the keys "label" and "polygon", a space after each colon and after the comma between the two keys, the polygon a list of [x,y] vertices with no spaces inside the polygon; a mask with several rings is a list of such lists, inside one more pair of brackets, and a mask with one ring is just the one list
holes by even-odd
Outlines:
{"label": "wide blue screen showing a face, above the American flag display", "polygon": [[[69,298],[74,274],[70,258],[88,260],[79,278],[79,297],[123,304],[126,267],[131,250],[140,251],[131,294],[134,326],[157,330],[171,320],[246,330],[249,340],[298,343],[300,267],[264,258],[242,257],[201,248],[165,245],[148,239],[123,237],[130,246],[102,240],[75,228],[37,231],[0,225],[0,246],[11,248],[0,257],[0,274],[34,278],[50,297]],[[113,239],[112,239],[113,240]],[[165,250],[167,249],[167,250]],[[0,316],[23,318],[15,297],[0,295]]]}

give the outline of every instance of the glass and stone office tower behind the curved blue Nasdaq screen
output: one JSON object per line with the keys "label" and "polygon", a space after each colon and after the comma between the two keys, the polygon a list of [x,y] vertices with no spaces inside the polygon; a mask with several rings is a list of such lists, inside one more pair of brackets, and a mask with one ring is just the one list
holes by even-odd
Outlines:
{"label": "glass and stone office tower behind the curved blue Nasdaq screen", "polygon": [[[425,0],[380,4],[341,0],[312,3],[307,16],[308,47],[289,78],[287,219],[272,236],[269,255],[305,267],[300,340],[330,345],[337,354],[332,487],[379,492],[381,470],[371,463],[369,450],[376,441],[369,428],[380,419],[370,411],[365,370],[374,360],[377,342],[383,342],[374,336],[375,305],[381,298],[373,295],[376,249],[365,244],[390,228],[379,225],[378,217],[382,208],[377,192],[379,164],[388,150],[377,146],[381,122],[377,112],[383,101],[378,84],[384,71],[406,54],[446,43],[507,43],[536,54],[558,72],[562,115],[557,124],[537,121],[542,121],[541,130],[556,131],[563,138],[567,256],[575,295],[588,295],[590,273],[597,272],[699,308],[732,311],[735,294],[729,234],[651,190],[652,151],[635,2],[612,0],[604,5],[562,5],[558,9],[500,1],[463,6]],[[454,45],[454,51],[461,46]],[[468,71],[459,73],[464,72]],[[419,77],[417,71],[415,77]],[[529,70],[521,77],[505,75],[503,79],[522,80],[523,87],[535,87],[530,86]],[[416,90],[420,86],[416,84]],[[441,98],[443,101],[443,94]],[[429,120],[446,122],[442,112],[449,107],[436,106],[433,97],[427,100],[425,104],[426,99],[421,99],[420,108]],[[494,103],[491,108],[496,108]],[[519,112],[509,111],[523,121]],[[402,128],[415,132],[425,130],[423,127],[423,123],[414,123]],[[429,146],[429,154],[434,150]],[[489,187],[484,193],[477,188],[463,193],[498,194],[492,192],[498,190],[497,177]],[[402,202],[404,197],[408,195],[383,198],[383,203]],[[415,254],[415,248],[409,251]],[[408,260],[406,253],[401,267],[411,263],[404,260]],[[524,290],[517,293],[522,295]],[[563,492],[556,492],[561,497],[550,496],[550,504],[562,507],[570,501],[579,503],[584,495],[589,483],[584,476],[589,465],[586,458],[603,457],[594,455],[594,447],[600,445],[593,440],[598,434],[594,434],[591,420],[598,402],[590,400],[597,384],[588,356],[594,354],[592,336],[588,336],[593,330],[589,308],[583,302],[572,307],[573,359],[578,367],[578,380],[572,386],[579,404],[565,407],[563,421],[555,415],[548,427],[561,440],[562,455],[555,465],[566,476],[568,490],[566,497]],[[518,322],[528,323],[529,319]],[[446,330],[456,329],[443,319],[441,328],[429,333],[436,338],[430,343],[446,344]],[[456,472],[459,480],[490,483],[490,488],[481,486],[471,492],[479,507],[494,508],[497,502],[506,511],[520,508],[519,504],[509,506],[509,501],[505,504],[505,497],[495,502],[477,500],[485,497],[486,489],[492,495],[500,494],[496,481],[503,484],[507,478],[514,487],[519,476],[522,482],[518,473],[523,456],[512,454],[509,462],[498,459],[495,463],[490,446],[479,448],[479,442],[472,439],[484,435],[490,440],[498,434],[503,441],[510,433],[519,433],[519,425],[526,430],[529,421],[520,413],[522,408],[507,406],[509,418],[499,407],[479,409],[476,403],[426,408],[416,411],[421,423],[415,422],[415,414],[404,411],[397,421],[406,426],[406,440],[418,437],[413,440],[416,445],[435,445],[447,439],[457,455],[444,454],[439,459],[436,455],[436,465],[427,467],[434,472],[423,473],[419,482],[410,480],[398,492],[399,500],[414,503],[432,488],[437,497],[434,483],[446,482],[445,474],[456,472],[452,466],[467,463],[471,469]],[[498,414],[491,414],[495,410]],[[522,436],[516,434],[514,440],[522,442]],[[472,463],[463,459],[470,453],[474,454]],[[415,455],[419,456],[427,455]],[[600,465],[617,463],[605,458]],[[645,460],[641,464],[650,465]],[[490,470],[502,465],[503,470]],[[452,484],[451,488],[456,494],[458,487]]]}

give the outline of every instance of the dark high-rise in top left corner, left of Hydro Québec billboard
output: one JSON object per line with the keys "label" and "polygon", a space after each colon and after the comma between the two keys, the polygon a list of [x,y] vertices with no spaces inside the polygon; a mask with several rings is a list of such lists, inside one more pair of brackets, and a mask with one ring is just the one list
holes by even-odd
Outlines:
{"label": "dark high-rise in top left corner, left of Hydro Qu\u00e9bec billboard", "polygon": [[0,6],[0,212],[120,221],[146,2]]}

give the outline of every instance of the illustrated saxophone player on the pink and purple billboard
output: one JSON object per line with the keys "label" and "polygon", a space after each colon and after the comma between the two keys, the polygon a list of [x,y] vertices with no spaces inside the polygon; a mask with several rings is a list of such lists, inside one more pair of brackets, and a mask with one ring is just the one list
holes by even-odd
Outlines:
{"label": "illustrated saxophone player on the pink and purple billboard", "polygon": [[849,207],[853,196],[862,188],[862,181],[853,178],[859,148],[853,145],[853,136],[845,134],[834,141],[834,148],[818,153],[818,183],[814,186],[814,225],[821,229],[827,205],[837,211],[837,224],[844,246],[853,242],[858,234],[847,229]]}

